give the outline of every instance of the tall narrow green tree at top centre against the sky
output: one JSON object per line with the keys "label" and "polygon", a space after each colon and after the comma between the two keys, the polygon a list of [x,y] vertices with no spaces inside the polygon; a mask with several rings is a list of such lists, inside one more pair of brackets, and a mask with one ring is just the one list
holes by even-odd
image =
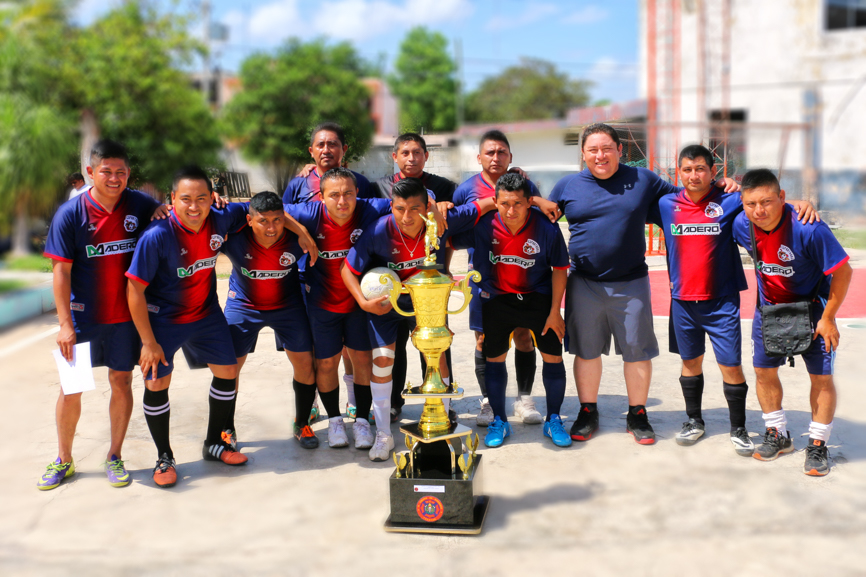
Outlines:
{"label": "tall narrow green tree at top centre against the sky", "polygon": [[388,83],[400,99],[401,130],[447,132],[457,125],[457,66],[447,46],[442,34],[423,26],[410,30],[400,44]]}

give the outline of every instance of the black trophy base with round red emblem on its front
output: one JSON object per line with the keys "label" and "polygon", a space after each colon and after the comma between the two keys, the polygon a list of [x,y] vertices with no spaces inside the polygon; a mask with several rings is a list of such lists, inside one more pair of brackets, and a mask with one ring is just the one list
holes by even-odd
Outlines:
{"label": "black trophy base with round red emblem on its front", "polygon": [[[487,516],[489,497],[482,491],[481,459],[476,454],[467,478],[451,469],[449,441],[422,444],[415,456],[415,471],[389,479],[391,515],[385,530],[398,533],[450,533],[477,535]],[[406,475],[410,476],[406,476]]]}

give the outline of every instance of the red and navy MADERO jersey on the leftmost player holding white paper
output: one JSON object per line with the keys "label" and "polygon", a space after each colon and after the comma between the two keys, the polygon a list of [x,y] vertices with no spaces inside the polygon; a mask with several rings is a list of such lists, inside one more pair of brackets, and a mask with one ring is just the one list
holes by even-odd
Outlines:
{"label": "red and navy MADERO jersey on the leftmost player holding white paper", "polygon": [[159,202],[124,190],[108,212],[90,189],[63,203],[51,221],[45,256],[72,263],[70,308],[75,326],[131,321],[124,273]]}

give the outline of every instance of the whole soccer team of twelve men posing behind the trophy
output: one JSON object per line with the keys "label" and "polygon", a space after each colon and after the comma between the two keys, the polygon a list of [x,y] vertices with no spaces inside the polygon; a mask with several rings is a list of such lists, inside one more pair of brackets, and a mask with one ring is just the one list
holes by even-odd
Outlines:
{"label": "whole soccer team of twelve men posing behind the trophy", "polygon": [[[712,153],[691,145],[679,155],[680,188],[621,164],[616,130],[595,124],[582,136],[586,168],[563,178],[545,200],[523,171],[510,168],[508,139],[499,131],[482,136],[481,172],[460,185],[424,170],[428,152],[418,134],[397,138],[392,156],[399,171],[375,183],[343,167],[345,142],[339,125],[313,128],[309,151],[315,164],[291,180],[282,198],[261,192],[248,203],[226,204],[206,172],[185,167],[174,177],[170,206],[127,188],[123,145],[103,140],[93,147],[87,167],[93,185],[58,209],[45,255],[53,262],[61,352],[71,361],[73,346],[89,342],[93,365],[108,367],[111,440],[105,471],[111,485],[131,482],[121,450],[136,364],[145,380],[144,415],[158,457],[153,481],[159,487],[177,482],[168,391],[178,349],[191,367],[213,374],[203,458],[247,462],[234,424],[238,376],[264,327],[273,329],[278,350],[292,365],[293,429],[300,446],[319,445],[309,426],[319,404],[329,419],[328,444],[349,444],[339,393],[342,360],[354,445],[369,450],[373,461],[388,459],[414,317],[398,315],[387,296],[368,298],[360,279],[376,267],[387,267],[401,280],[415,274],[425,257],[430,213],[440,233],[437,262],[447,272],[453,251],[467,249],[470,265],[482,276],[473,289],[470,327],[483,397],[476,422],[487,427],[488,447],[502,445],[512,431],[505,394],[512,341],[518,385],[513,416],[543,423],[544,437],[566,447],[598,430],[601,355],[609,354],[611,337],[623,360],[627,431],[640,444],[655,442],[645,407],[652,359],[659,354],[644,258],[645,224],[651,222],[669,231],[670,350],[682,358],[688,417],[676,442],[692,445],[705,431],[702,364],[709,336],[737,454],[772,460],[794,449],[778,376],[785,359],[764,353],[758,314],[752,340],[763,443],[756,448],[746,429],[739,311],[746,282],[737,244],[751,247],[754,234],[761,303],[808,299],[817,287],[815,338],[802,355],[812,387],[805,472],[829,472],[835,316],[852,270],[813,207],[786,203],[772,172],[752,170],[740,185],[715,180]],[[567,245],[556,224],[563,215]],[[225,310],[216,292],[220,252],[232,263]],[[407,295],[398,304],[412,310]],[[568,431],[560,417],[563,345],[574,355],[580,401]],[[546,415],[531,397],[536,348]],[[449,382],[450,354],[443,355],[440,370]],[[72,442],[80,414],[81,394],[61,390],[58,456],[39,489],[53,489],[75,473]],[[449,416],[456,421],[454,411]]]}

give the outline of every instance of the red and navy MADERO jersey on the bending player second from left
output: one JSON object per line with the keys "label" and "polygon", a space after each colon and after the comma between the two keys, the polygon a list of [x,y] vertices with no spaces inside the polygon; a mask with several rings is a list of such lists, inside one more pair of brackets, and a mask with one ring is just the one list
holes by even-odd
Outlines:
{"label": "red and navy MADERO jersey on the bending player second from left", "polygon": [[226,235],[247,224],[248,203],[210,209],[198,232],[171,211],[144,231],[126,276],[146,285],[151,322],[186,324],[218,313],[217,255]]}

